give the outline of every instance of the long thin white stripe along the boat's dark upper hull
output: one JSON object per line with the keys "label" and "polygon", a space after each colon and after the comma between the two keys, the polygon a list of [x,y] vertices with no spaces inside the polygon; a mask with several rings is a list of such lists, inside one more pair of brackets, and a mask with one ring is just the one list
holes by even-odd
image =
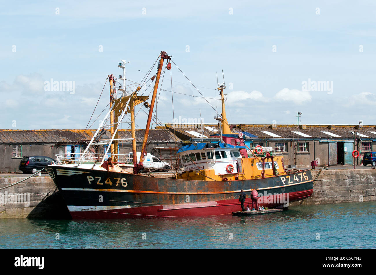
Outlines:
{"label": "long thin white stripe along the boat's dark upper hull", "polygon": [[[312,180],[307,180],[306,182],[312,182]],[[260,190],[267,190],[273,188],[282,188],[282,187],[289,187],[297,184],[302,184],[306,182],[299,182],[287,185],[280,185],[280,186],[272,186],[272,187],[264,187],[257,189]],[[145,193],[145,194],[177,194],[177,195],[210,195],[210,194],[229,194],[229,193],[240,193],[241,190],[234,190],[234,191],[225,191],[225,192],[207,192],[203,193],[196,193],[196,192],[158,192],[158,191],[141,191],[141,190],[124,190],[124,189],[92,189],[92,188],[61,188],[62,191],[99,191],[99,192],[125,192],[125,193]],[[254,189],[244,189],[244,192],[250,192]]]}

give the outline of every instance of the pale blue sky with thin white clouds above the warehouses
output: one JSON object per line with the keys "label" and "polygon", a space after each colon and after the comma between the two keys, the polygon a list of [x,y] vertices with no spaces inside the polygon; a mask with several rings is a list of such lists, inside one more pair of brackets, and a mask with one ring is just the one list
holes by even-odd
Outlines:
{"label": "pale blue sky with thin white clouds above the warehouses", "polygon": [[172,64],[159,122],[216,123],[223,70],[230,124],[294,124],[297,112],[303,124],[376,124],[374,1],[2,0],[0,23],[2,129],[96,129],[120,60],[127,84],[140,82],[161,51],[208,102]]}

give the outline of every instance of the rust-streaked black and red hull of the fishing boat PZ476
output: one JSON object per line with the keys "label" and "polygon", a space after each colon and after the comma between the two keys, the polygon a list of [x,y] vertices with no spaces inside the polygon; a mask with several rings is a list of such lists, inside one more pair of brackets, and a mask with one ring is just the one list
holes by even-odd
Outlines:
{"label": "rust-streaked black and red hull of the fishing boat PZ476", "polygon": [[311,196],[310,170],[252,180],[196,181],[50,165],[46,168],[62,193],[73,219],[227,215],[252,208],[257,189],[264,207],[288,205]]}

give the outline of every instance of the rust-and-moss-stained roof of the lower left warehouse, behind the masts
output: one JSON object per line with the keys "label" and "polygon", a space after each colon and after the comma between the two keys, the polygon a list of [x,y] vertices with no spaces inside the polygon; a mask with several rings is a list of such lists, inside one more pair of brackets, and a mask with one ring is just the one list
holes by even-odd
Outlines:
{"label": "rust-and-moss-stained roof of the lower left warehouse, behind the masts", "polygon": [[[96,130],[12,130],[0,129],[0,143],[76,143],[80,139],[83,141],[91,140]],[[136,141],[142,142],[144,139],[145,130],[136,129]],[[132,132],[130,130],[119,130],[119,138],[131,138]],[[102,138],[109,138],[109,132],[102,136]],[[167,129],[151,129],[149,131],[149,142],[174,142],[181,141],[174,136],[171,131]],[[124,142],[130,142],[124,141]]]}

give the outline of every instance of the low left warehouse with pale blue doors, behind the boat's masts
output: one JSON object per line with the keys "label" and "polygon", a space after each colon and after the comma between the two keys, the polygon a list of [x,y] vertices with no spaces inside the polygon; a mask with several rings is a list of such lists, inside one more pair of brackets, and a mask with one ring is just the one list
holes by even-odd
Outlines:
{"label": "low left warehouse with pale blue doors, behind the boat's masts", "polygon": [[[18,171],[23,156],[48,156],[56,159],[56,154],[82,153],[96,130],[10,130],[0,129],[0,172]],[[145,130],[136,129],[137,150],[141,151]],[[119,130],[119,138],[131,138],[130,130]],[[109,139],[109,132],[102,135]],[[170,152],[171,147],[181,140],[167,129],[153,129],[149,132],[147,152]],[[156,148],[156,150],[153,150]],[[101,146],[99,153],[106,147]],[[131,140],[119,141],[119,154],[132,151]],[[164,156],[165,157],[165,156]]]}

